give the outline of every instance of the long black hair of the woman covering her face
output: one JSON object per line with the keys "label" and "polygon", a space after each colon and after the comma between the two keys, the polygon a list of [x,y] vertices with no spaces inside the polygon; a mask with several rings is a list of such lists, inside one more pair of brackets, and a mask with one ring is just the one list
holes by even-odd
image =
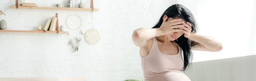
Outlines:
{"label": "long black hair of the woman covering her face", "polygon": [[[163,16],[166,15],[168,18],[181,18],[185,20],[185,22],[189,22],[192,24],[192,31],[191,33],[197,32],[197,24],[195,21],[195,18],[192,14],[192,12],[189,11],[188,8],[186,8],[183,5],[180,4],[174,4],[166,9],[166,11],[163,12],[162,16],[160,17],[159,21],[153,28],[160,28],[160,26],[163,23]],[[186,68],[189,66],[189,61],[192,61],[192,52],[191,47],[196,45],[197,42],[189,40],[188,38],[184,37],[184,34],[177,38],[175,42],[181,47],[183,50],[183,57],[184,57],[184,67],[183,71],[186,70]]]}

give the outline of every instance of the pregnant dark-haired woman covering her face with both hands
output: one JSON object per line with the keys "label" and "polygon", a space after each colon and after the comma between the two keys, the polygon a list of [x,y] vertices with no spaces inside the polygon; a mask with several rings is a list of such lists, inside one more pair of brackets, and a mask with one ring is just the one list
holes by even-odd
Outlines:
{"label": "pregnant dark-haired woman covering her face with both hands", "polygon": [[153,28],[138,28],[132,39],[140,47],[145,81],[190,81],[181,71],[192,59],[191,50],[218,52],[221,42],[196,33],[197,25],[186,7],[175,4],[164,11]]}

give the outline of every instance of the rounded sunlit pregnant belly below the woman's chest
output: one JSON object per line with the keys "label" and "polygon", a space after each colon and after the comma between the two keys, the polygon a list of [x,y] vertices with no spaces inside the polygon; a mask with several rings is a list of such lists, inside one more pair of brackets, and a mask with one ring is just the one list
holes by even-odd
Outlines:
{"label": "rounded sunlit pregnant belly below the woman's chest", "polygon": [[183,72],[175,70],[158,77],[146,78],[145,81],[190,81],[190,79]]}

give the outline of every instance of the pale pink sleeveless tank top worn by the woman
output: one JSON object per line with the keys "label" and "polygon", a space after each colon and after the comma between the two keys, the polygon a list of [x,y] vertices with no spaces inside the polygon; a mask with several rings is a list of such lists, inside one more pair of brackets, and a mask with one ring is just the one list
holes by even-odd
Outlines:
{"label": "pale pink sleeveless tank top worn by the woman", "polygon": [[[157,39],[153,38],[153,45],[149,54],[145,57],[141,57],[144,80],[168,81],[172,78],[172,76],[167,75],[168,73],[183,70],[183,53],[180,46],[178,46],[178,49],[179,51],[176,55],[163,54],[158,49]],[[186,77],[186,75],[184,77]]]}

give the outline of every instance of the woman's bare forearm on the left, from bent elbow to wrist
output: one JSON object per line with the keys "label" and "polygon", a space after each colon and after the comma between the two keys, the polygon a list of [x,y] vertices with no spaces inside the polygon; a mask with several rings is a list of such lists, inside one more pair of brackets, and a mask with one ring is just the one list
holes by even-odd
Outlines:
{"label": "woman's bare forearm on the left, from bent elbow to wrist", "polygon": [[133,32],[133,37],[138,43],[162,35],[164,33],[160,28],[138,28]]}

